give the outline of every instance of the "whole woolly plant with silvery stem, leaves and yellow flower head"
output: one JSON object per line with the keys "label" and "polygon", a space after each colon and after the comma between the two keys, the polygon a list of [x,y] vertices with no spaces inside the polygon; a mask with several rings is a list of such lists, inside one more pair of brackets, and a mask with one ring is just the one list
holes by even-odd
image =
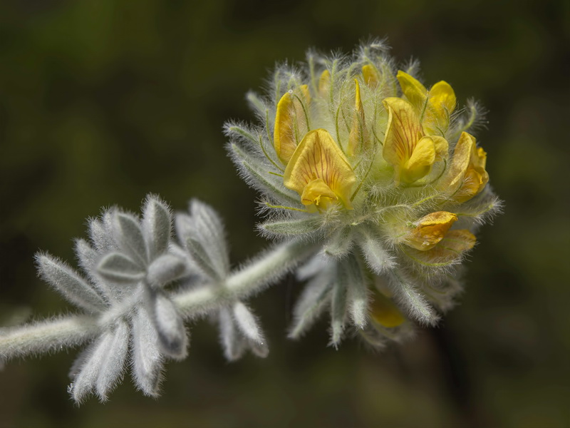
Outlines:
{"label": "whole woolly plant with silvery stem, leaves and yellow flower head", "polygon": [[173,215],[150,195],[140,218],[105,210],[89,221],[90,239],[76,241],[83,274],[36,257],[43,280],[81,314],[2,328],[0,359],[87,343],[71,370],[73,399],[107,399],[128,362],[137,387],[156,396],[165,360],[187,355],[187,320],[213,315],[229,360],[265,357],[244,300],[291,270],[306,281],[291,338],[322,312],[334,347],[348,332],[383,347],[415,323],[434,325],[500,201],[471,133],[477,104],[460,108],[448,83],[428,89],[417,72],[415,62],[396,68],[381,42],[277,67],[266,96],[247,96],[260,124],[225,126],[234,163],[261,193],[258,229],[274,245],[232,270],[222,220],[204,203]]}

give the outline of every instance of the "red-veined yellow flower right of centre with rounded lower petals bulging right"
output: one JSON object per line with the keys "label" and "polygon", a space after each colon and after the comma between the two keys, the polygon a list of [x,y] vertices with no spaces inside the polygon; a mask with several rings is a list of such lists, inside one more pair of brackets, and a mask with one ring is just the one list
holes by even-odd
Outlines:
{"label": "red-veined yellow flower right of centre with rounded lower petals bulging right", "polygon": [[383,156],[393,165],[396,184],[413,183],[427,175],[435,161],[447,158],[447,140],[424,136],[412,104],[402,98],[385,98],[388,124]]}

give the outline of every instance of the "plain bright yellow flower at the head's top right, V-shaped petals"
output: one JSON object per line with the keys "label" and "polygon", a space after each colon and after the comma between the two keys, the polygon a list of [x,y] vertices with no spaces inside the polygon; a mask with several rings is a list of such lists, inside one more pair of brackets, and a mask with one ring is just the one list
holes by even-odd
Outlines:
{"label": "plain bright yellow flower at the head's top right, V-shaped petals", "polygon": [[398,71],[396,76],[402,92],[420,115],[425,131],[444,135],[450,124],[450,114],[455,110],[457,100],[449,83],[439,81],[427,91],[422,83],[408,73]]}

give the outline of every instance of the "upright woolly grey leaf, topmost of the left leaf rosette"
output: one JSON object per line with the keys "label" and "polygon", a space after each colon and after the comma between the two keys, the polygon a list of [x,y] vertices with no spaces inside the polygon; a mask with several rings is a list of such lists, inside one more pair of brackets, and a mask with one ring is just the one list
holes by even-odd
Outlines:
{"label": "upright woolly grey leaf, topmost of the left leaf rosette", "polygon": [[172,214],[168,205],[155,195],[148,195],[142,210],[142,230],[148,244],[150,260],[168,249],[172,232]]}

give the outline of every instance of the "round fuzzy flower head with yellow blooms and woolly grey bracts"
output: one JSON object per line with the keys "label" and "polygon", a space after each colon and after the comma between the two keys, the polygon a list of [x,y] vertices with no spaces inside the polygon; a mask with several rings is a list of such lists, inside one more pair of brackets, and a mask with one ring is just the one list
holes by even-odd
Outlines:
{"label": "round fuzzy flower head with yellow blooms and woolly grey bracts", "polygon": [[327,309],[335,346],[349,322],[374,345],[408,335],[410,320],[433,324],[459,290],[475,225],[499,209],[466,132],[475,107],[464,118],[448,83],[428,89],[386,52],[375,41],[281,66],[266,96],[248,95],[264,123],[227,126],[263,194],[262,233],[321,245],[299,269],[308,285],[291,337]]}

